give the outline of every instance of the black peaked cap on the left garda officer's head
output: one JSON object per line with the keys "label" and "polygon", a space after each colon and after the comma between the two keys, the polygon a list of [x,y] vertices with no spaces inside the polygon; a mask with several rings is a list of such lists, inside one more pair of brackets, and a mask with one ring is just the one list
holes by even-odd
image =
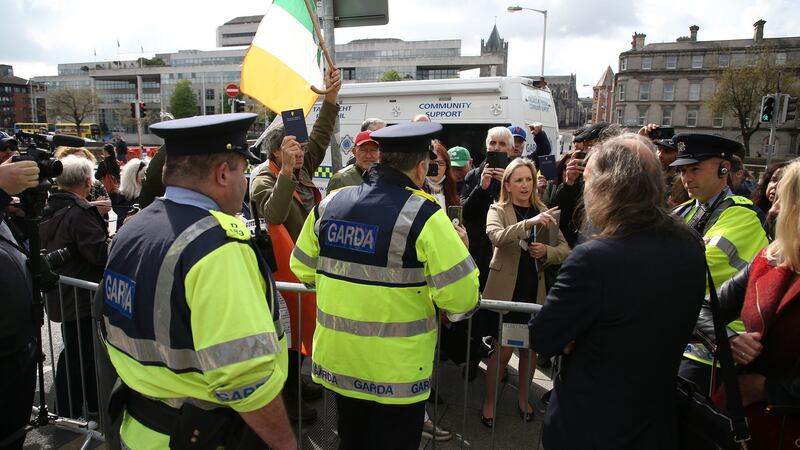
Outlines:
{"label": "black peaked cap on the left garda officer's head", "polygon": [[196,116],[159,122],[150,130],[164,139],[167,155],[236,152],[257,163],[260,160],[247,145],[247,130],[256,117],[253,113]]}

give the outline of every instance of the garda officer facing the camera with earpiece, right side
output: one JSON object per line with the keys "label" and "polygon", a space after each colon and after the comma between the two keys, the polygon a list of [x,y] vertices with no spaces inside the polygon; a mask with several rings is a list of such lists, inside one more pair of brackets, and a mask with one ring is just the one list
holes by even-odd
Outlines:
{"label": "garda officer facing the camera with earpiece, right side", "polygon": [[[743,148],[730,139],[699,133],[677,134],[672,141],[678,147],[678,157],[670,166],[678,169],[691,198],[674,212],[703,237],[711,277],[719,288],[768,243],[753,202],[733,195],[728,188],[731,158]],[[729,327],[730,332],[744,331],[738,320]],[[711,353],[700,344],[690,343],[683,356],[681,376],[708,389]]]}

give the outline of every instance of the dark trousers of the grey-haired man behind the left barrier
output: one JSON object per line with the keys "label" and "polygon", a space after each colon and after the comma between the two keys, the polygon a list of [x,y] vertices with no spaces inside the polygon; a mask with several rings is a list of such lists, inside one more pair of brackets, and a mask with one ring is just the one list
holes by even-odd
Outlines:
{"label": "dark trousers of the grey-haired man behind the left barrier", "polygon": [[64,349],[61,350],[56,365],[56,406],[60,416],[77,419],[83,415],[84,392],[87,410],[97,411],[92,319],[81,317],[80,320],[63,322],[61,337],[64,340]]}

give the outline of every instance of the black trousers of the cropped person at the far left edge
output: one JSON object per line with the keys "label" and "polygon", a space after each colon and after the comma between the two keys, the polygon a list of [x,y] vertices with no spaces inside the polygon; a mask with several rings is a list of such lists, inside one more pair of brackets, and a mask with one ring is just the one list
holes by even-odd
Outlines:
{"label": "black trousers of the cropped person at the far left edge", "polygon": [[[28,349],[0,357],[0,441],[24,427],[31,418],[36,386],[36,360],[33,341]],[[25,435],[3,450],[22,449]]]}

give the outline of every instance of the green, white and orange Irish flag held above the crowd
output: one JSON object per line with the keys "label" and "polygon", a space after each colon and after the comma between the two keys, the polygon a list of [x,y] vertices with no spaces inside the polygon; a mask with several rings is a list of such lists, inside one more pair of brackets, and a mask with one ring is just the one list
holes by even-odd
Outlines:
{"label": "green, white and orange Irish flag held above the crowd", "polygon": [[[315,2],[311,2],[312,7]],[[280,113],[308,115],[322,87],[320,50],[303,0],[273,0],[242,65],[241,91]]]}

